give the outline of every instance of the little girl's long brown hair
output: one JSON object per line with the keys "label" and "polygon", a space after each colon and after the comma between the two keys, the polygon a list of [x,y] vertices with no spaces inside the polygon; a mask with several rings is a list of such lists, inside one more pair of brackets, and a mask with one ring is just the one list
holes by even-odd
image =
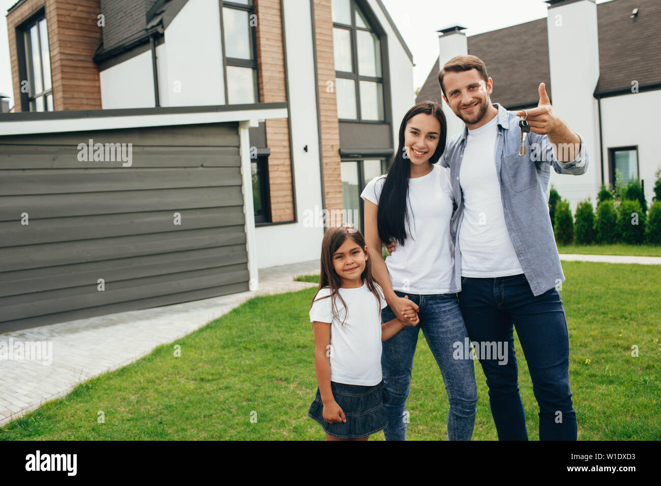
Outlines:
{"label": "little girl's long brown hair", "polygon": [[[332,257],[347,238],[355,241],[356,245],[360,247],[360,250],[365,253],[365,239],[354,225],[350,223],[342,223],[340,226],[329,227],[329,229],[326,231],[326,234],[324,235],[323,241],[321,242],[321,271],[319,272],[319,288],[317,288],[317,292],[315,292],[315,296],[312,298],[312,302],[310,303],[311,309],[312,304],[314,304],[315,300],[317,300],[317,294],[319,294],[319,290],[328,287],[331,291],[331,294],[329,296],[319,298],[318,300],[331,298],[332,315],[339,320],[340,317],[337,310],[336,299],[340,298],[342,305],[344,305],[344,309],[346,309],[346,314],[344,315],[344,319],[342,319],[342,326],[344,326],[344,321],[346,321],[346,317],[349,314],[349,309],[346,305],[346,302],[344,302],[344,299],[342,299],[340,292],[338,292],[340,286],[342,285],[342,280],[340,280],[340,276],[335,272],[335,267],[332,263]],[[377,311],[379,312],[379,315],[381,315],[381,296],[377,290],[377,282],[372,276],[371,259],[369,257],[365,262],[365,269],[363,270],[362,274],[360,274],[360,277],[362,280],[365,280],[369,292],[374,294],[374,296],[377,298],[377,301],[379,302]]]}

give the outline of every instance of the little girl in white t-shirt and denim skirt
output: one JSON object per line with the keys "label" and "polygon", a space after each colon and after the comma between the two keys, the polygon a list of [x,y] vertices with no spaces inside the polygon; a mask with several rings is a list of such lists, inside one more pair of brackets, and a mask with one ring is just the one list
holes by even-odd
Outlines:
{"label": "little girl in white t-shirt and denim skirt", "polygon": [[[381,341],[404,325],[396,318],[381,323],[385,301],[370,262],[363,235],[353,225],[326,231],[319,289],[310,306],[319,387],[307,413],[321,424],[326,440],[368,440],[387,425]],[[416,325],[417,316],[407,323]]]}

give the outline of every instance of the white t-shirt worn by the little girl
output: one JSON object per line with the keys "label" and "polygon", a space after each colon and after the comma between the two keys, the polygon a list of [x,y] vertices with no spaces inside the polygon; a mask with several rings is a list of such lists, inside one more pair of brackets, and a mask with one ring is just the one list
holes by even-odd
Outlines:
{"label": "white t-shirt worn by the little girl", "polygon": [[378,284],[377,291],[381,296],[380,307],[365,280],[360,288],[340,288],[349,311],[347,314],[342,301],[335,296],[337,317],[332,313],[330,297],[319,300],[331,295],[331,290],[325,287],[317,293],[310,309],[310,322],[331,323],[331,382],[365,386],[381,382],[381,309],[387,304]]}

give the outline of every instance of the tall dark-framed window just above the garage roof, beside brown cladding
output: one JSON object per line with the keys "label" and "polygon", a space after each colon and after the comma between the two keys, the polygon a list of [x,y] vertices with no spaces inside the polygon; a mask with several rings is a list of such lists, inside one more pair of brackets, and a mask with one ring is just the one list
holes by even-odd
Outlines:
{"label": "tall dark-framed window just above the garage roof, beside brown cladding", "polygon": [[256,103],[257,61],[253,0],[221,1],[227,104]]}

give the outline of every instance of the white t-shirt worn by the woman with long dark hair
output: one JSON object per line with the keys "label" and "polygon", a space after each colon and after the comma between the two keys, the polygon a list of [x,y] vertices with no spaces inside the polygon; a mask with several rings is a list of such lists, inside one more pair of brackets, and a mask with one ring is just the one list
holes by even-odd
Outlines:
{"label": "white t-shirt worn by the woman with long dark hair", "polygon": [[[377,206],[385,175],[368,182],[360,197]],[[427,175],[408,179],[408,224],[404,245],[385,259],[393,290],[447,294],[454,272],[450,169],[434,165]]]}

